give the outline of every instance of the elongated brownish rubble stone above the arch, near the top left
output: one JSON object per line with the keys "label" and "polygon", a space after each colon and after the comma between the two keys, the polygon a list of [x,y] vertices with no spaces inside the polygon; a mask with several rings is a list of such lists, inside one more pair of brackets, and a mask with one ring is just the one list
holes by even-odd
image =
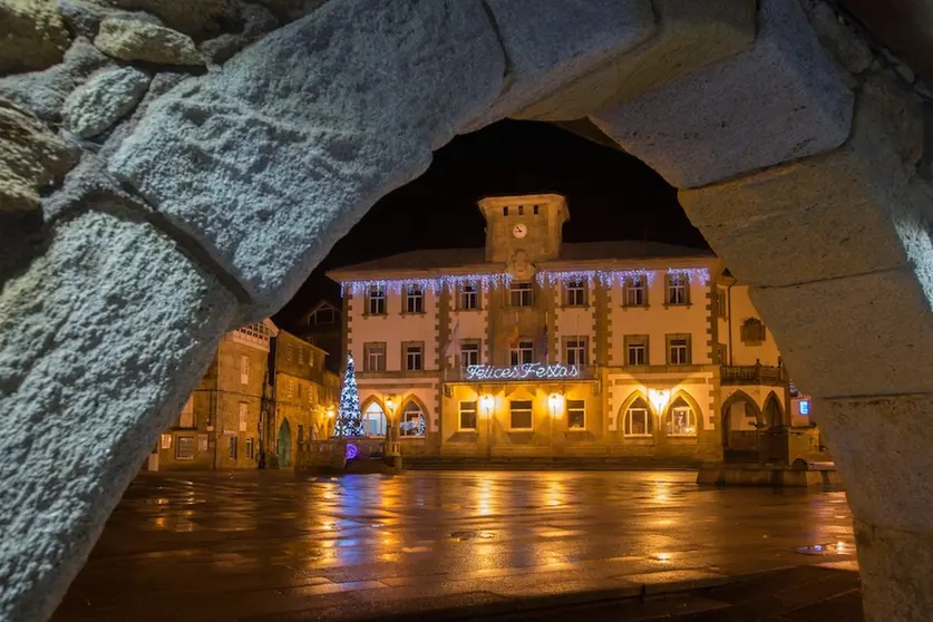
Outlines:
{"label": "elongated brownish rubble stone above the arch, near the top left", "polygon": [[145,60],[158,65],[204,65],[187,35],[143,21],[107,18],[94,45],[123,60]]}

